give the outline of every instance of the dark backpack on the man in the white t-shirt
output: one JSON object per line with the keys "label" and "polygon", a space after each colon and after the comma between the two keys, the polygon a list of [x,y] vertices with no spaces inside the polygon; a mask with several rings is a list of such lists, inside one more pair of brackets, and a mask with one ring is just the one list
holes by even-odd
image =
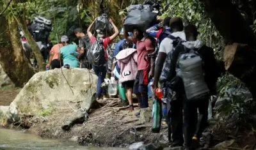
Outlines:
{"label": "dark backpack on the man in the white t-shirt", "polygon": [[182,40],[180,37],[175,37],[172,35],[169,35],[167,38],[172,39],[173,50],[167,54],[166,59],[164,61],[163,70],[161,72],[161,76],[159,79],[159,82],[161,83],[172,80],[173,75],[171,74],[173,73],[170,72],[170,66],[172,65],[172,52],[176,49],[178,45],[181,45],[181,43],[184,42],[184,40]]}

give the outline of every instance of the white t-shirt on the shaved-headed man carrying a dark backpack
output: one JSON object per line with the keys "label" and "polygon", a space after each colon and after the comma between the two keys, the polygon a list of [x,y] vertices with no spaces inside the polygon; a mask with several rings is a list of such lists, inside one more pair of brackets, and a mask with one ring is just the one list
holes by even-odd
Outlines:
{"label": "white t-shirt on the shaved-headed man carrying a dark backpack", "polygon": [[[181,32],[175,32],[171,34],[174,37],[180,37],[182,40],[186,40],[186,36],[184,31]],[[161,41],[160,47],[159,47],[159,52],[164,52],[168,54],[172,50],[172,39],[170,38],[164,38],[163,41]]]}

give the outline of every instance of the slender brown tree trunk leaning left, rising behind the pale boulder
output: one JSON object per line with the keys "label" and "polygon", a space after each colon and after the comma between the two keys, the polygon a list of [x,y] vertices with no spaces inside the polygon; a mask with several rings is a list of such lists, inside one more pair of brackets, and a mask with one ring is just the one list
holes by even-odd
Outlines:
{"label": "slender brown tree trunk leaning left, rising behind the pale boulder", "polygon": [[22,29],[22,31],[32,49],[32,52],[33,52],[35,59],[38,63],[39,71],[45,71],[44,57],[42,56],[40,49],[39,49],[38,45],[36,44],[36,41],[32,38],[31,34],[29,33],[28,27],[25,24],[25,20],[20,19],[20,18],[16,18],[16,19],[17,19],[17,22],[18,22],[20,28]]}

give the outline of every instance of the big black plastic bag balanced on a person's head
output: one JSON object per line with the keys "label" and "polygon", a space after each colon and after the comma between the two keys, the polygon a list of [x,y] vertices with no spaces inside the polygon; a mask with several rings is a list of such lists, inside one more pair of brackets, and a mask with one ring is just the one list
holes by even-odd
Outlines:
{"label": "big black plastic bag balanced on a person's head", "polygon": [[132,32],[134,27],[145,32],[156,20],[157,13],[152,11],[131,10],[124,22],[124,28],[127,32]]}

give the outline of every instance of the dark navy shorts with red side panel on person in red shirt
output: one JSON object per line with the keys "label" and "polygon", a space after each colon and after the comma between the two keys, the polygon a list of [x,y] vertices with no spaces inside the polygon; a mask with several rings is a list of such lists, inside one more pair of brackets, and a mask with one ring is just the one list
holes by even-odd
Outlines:
{"label": "dark navy shorts with red side panel on person in red shirt", "polygon": [[148,93],[148,73],[150,70],[138,70],[134,81],[133,93]]}

